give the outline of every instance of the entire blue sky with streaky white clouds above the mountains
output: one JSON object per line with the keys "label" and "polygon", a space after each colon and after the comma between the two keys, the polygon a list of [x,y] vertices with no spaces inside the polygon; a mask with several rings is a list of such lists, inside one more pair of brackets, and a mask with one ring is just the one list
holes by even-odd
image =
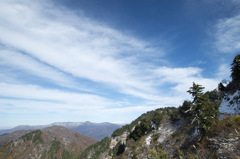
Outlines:
{"label": "entire blue sky with streaky white clouds above the mountains", "polygon": [[0,128],[179,106],[230,79],[239,28],[238,0],[0,0]]}

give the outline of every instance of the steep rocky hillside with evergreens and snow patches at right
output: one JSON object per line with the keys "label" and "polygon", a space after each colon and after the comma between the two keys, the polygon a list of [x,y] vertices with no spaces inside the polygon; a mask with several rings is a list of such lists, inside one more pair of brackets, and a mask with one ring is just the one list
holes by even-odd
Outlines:
{"label": "steep rocky hillside with evergreens and snow patches at right", "polygon": [[230,109],[228,105],[240,110],[239,60],[237,55],[233,80],[227,85],[219,83],[218,90],[203,93],[204,87],[193,83],[187,91],[192,101],[142,114],[111,138],[87,148],[80,158],[239,158],[240,116],[219,111]]}

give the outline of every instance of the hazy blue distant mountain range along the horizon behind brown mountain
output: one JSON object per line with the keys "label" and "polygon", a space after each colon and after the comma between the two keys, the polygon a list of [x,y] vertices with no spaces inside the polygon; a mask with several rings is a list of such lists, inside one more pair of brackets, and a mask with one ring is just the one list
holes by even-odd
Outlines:
{"label": "hazy blue distant mountain range along the horizon behind brown mountain", "polygon": [[91,138],[102,140],[104,137],[110,137],[114,130],[120,128],[122,125],[117,125],[113,123],[92,123],[89,121],[86,122],[55,122],[48,125],[19,125],[12,129],[0,130],[0,136],[4,134],[9,134],[18,130],[36,130],[44,129],[51,126],[62,126],[71,130],[75,130],[80,134],[89,136]]}

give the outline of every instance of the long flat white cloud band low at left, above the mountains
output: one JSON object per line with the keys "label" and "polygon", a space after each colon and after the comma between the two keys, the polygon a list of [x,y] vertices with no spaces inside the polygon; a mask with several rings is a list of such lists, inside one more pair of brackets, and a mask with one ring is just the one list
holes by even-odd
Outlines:
{"label": "long flat white cloud band low at left, above the mountains", "polygon": [[[110,104],[107,99],[93,94],[80,94],[66,92],[57,89],[46,89],[35,85],[19,85],[0,83],[0,96],[51,101],[63,103],[68,107],[68,104],[78,105],[78,107],[105,107]],[[71,108],[71,107],[68,107]]]}

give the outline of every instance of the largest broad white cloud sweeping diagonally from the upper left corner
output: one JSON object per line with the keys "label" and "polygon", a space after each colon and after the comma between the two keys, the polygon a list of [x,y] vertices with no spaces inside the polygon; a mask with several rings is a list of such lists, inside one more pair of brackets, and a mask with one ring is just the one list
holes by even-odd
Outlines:
{"label": "largest broad white cloud sweeping diagonally from the upper left corner", "polygon": [[49,9],[35,3],[2,2],[0,17],[4,24],[0,25],[0,40],[4,45],[72,76],[111,85],[121,92],[125,87],[152,89],[138,74],[139,67],[132,65],[133,58],[127,58],[151,53],[154,49],[149,43],[53,6]]}

